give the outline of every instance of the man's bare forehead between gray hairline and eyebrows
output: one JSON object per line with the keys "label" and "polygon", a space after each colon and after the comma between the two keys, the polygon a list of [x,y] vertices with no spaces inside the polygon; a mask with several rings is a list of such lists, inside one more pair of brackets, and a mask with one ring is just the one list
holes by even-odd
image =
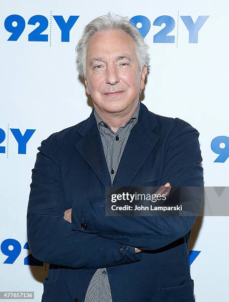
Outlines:
{"label": "man's bare forehead between gray hairline and eyebrows", "polygon": [[117,57],[123,54],[135,57],[134,40],[124,31],[97,32],[87,45],[87,60],[92,57]]}

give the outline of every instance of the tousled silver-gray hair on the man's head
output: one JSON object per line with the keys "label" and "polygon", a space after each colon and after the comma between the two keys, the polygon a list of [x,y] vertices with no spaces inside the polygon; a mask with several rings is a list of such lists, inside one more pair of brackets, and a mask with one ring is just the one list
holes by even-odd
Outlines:
{"label": "tousled silver-gray hair on the man's head", "polygon": [[111,14],[109,12],[108,14],[100,16],[88,23],[85,26],[83,34],[76,45],[75,51],[77,69],[80,76],[83,78],[86,78],[86,53],[89,40],[96,32],[109,30],[121,30],[133,38],[140,72],[144,66],[149,66],[149,46],[144,41],[144,38],[141,36],[139,30],[132,22],[129,21],[128,17]]}

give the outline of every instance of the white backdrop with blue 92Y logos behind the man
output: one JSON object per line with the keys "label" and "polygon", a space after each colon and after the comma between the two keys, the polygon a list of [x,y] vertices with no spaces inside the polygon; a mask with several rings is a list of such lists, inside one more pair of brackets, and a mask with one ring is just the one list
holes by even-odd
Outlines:
{"label": "white backdrop with blue 92Y logos behind the man", "polygon": [[[204,185],[216,201],[229,184],[228,0],[1,0],[0,291],[33,291],[41,301],[49,264],[27,243],[31,170],[43,139],[92,111],[75,46],[108,11],[128,16],[150,46],[142,102],[199,131]],[[189,249],[196,302],[229,301],[227,213],[198,217]]]}

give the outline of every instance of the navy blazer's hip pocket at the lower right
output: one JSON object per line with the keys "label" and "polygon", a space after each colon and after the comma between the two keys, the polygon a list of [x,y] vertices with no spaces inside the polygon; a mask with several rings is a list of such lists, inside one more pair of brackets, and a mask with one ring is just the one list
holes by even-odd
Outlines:
{"label": "navy blazer's hip pocket at the lower right", "polygon": [[195,302],[194,298],[194,281],[191,279],[189,283],[172,286],[161,287],[158,289],[159,302]]}

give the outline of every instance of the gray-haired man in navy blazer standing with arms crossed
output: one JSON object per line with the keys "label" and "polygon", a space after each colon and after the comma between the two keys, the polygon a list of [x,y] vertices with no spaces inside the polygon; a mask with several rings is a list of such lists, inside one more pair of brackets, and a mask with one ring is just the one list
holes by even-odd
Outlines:
{"label": "gray-haired man in navy blazer standing with arms crossed", "polygon": [[108,217],[104,198],[111,186],[203,186],[199,133],[139,101],[148,46],[127,18],[91,21],[76,50],[94,109],[42,141],[32,170],[28,243],[50,263],[42,302],[193,302],[195,217]]}

